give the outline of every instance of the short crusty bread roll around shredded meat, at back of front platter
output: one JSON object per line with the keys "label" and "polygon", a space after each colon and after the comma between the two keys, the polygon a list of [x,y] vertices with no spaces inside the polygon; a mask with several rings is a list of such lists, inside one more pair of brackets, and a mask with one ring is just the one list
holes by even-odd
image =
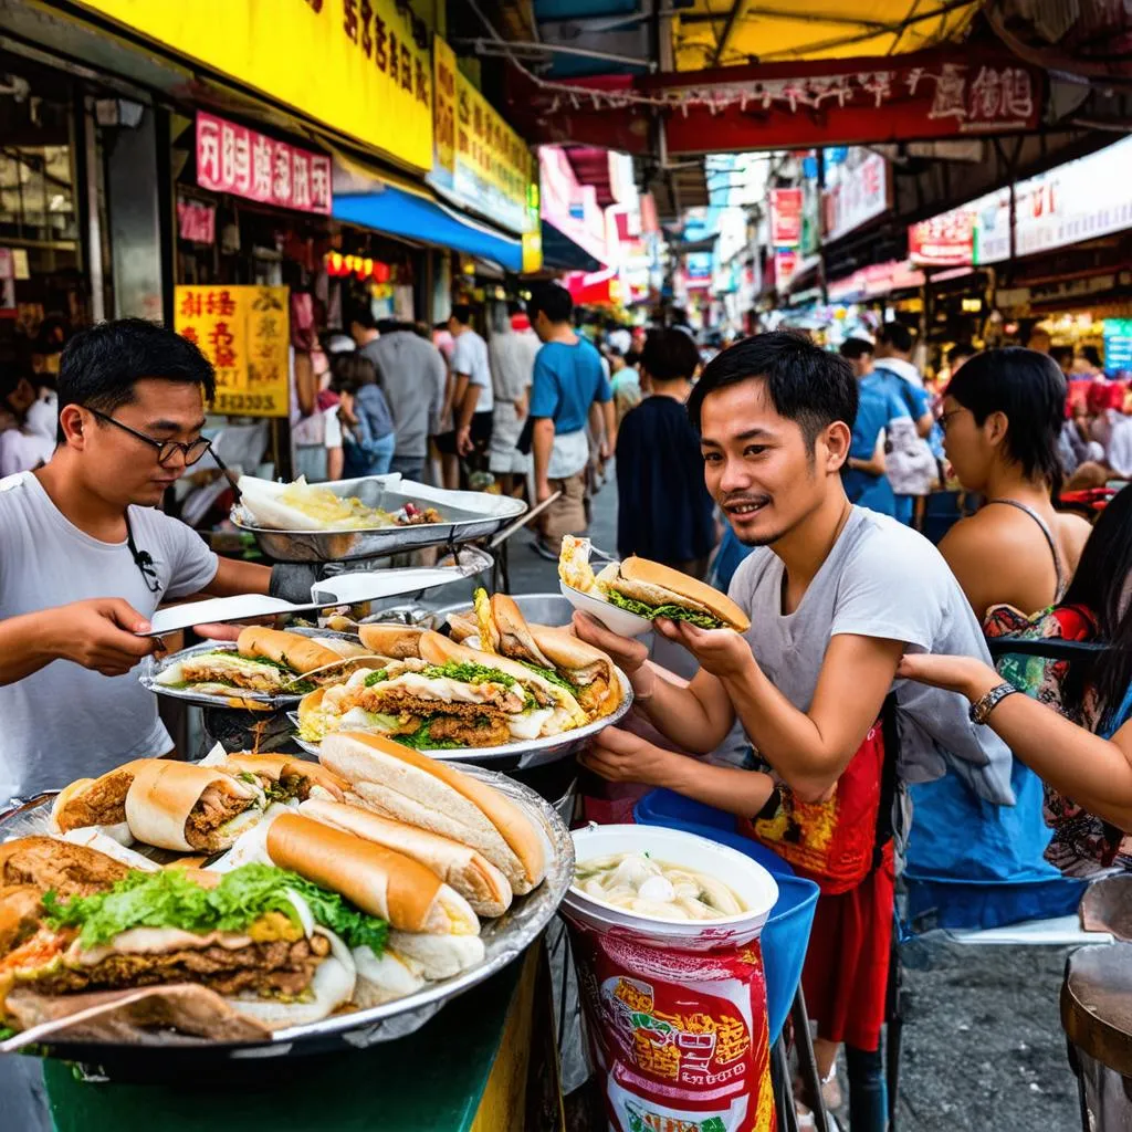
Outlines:
{"label": "short crusty bread roll around shredded meat, at back of front platter", "polygon": [[228,798],[248,801],[243,811],[263,797],[256,787],[215,766],[197,766],[172,758],[147,760],[138,767],[126,795],[126,821],[130,832],[146,844],[182,852],[194,849],[216,852],[230,848],[241,832],[239,827],[229,831],[222,824],[213,827],[207,838],[194,837],[197,844],[188,840],[189,815],[201,795],[214,784]]}

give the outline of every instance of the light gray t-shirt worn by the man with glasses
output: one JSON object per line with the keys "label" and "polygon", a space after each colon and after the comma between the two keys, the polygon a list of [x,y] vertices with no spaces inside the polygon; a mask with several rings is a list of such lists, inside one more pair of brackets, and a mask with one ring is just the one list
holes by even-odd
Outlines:
{"label": "light gray t-shirt worn by the man with glasses", "polygon": [[[149,592],[126,542],[80,531],[33,474],[0,480],[0,619],[88,598],[122,598],[151,617],[161,602],[197,593],[216,575],[216,556],[191,528],[152,507],[130,507],[129,517],[138,550],[153,557],[158,593]],[[102,676],[52,661],[0,687],[0,805],[172,745],[137,669]]]}

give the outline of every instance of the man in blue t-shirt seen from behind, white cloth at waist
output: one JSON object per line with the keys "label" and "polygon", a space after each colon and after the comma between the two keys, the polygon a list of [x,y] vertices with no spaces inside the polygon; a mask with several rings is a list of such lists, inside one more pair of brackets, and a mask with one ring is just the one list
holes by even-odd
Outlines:
{"label": "man in blue t-shirt seen from behind, white cloth at waist", "polygon": [[601,354],[574,333],[573,311],[569,292],[556,283],[534,288],[526,303],[531,326],[543,343],[531,381],[535,500],[542,503],[560,492],[543,513],[542,534],[534,550],[555,560],[563,535],[582,534],[588,525],[584,499],[590,441],[585,426],[591,411],[595,415],[600,412],[594,432],[604,432],[600,444],[603,460],[612,455],[617,435],[614,392]]}

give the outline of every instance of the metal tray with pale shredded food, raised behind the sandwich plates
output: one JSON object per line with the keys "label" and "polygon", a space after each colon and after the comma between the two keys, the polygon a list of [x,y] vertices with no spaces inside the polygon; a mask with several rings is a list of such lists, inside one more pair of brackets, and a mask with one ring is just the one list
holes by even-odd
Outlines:
{"label": "metal tray with pale shredded food, raised behind the sandwich plates", "polygon": [[317,486],[329,488],[337,496],[357,496],[367,507],[388,512],[400,511],[408,503],[436,507],[444,522],[360,531],[280,531],[257,526],[243,504],[232,508],[232,522],[255,535],[259,549],[276,561],[331,563],[470,542],[495,534],[526,512],[526,504],[511,496],[446,491],[396,475],[367,475]]}

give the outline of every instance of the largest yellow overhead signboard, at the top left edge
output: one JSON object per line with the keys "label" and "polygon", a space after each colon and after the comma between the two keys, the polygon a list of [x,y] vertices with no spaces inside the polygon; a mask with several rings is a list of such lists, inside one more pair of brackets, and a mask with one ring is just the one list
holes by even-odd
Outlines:
{"label": "largest yellow overhead signboard, at the top left edge", "polygon": [[404,0],[80,0],[178,55],[432,166],[428,27]]}

